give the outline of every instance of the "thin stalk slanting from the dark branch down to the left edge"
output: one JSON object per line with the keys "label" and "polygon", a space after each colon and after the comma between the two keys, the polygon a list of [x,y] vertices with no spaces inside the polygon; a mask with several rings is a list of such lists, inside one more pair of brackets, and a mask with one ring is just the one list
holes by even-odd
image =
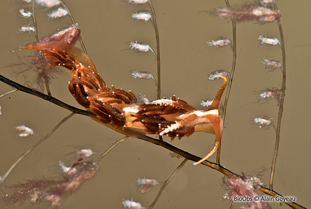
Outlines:
{"label": "thin stalk slanting from the dark branch down to the left edge", "polygon": [[45,134],[42,139],[40,139],[37,143],[35,143],[27,152],[25,152],[21,157],[19,157],[16,162],[10,167],[9,170],[2,176],[2,179],[0,181],[0,184],[4,182],[4,180],[7,178],[7,176],[11,173],[11,171],[15,168],[15,166],[22,160],[24,157],[26,157],[32,150],[34,150],[36,147],[39,146],[40,143],[42,143],[45,139],[49,138],[50,135],[52,135],[58,128],[61,126],[64,122],[66,122],[69,118],[71,118],[74,114],[72,112],[69,116],[65,117],[62,121],[60,121],[49,133]]}

